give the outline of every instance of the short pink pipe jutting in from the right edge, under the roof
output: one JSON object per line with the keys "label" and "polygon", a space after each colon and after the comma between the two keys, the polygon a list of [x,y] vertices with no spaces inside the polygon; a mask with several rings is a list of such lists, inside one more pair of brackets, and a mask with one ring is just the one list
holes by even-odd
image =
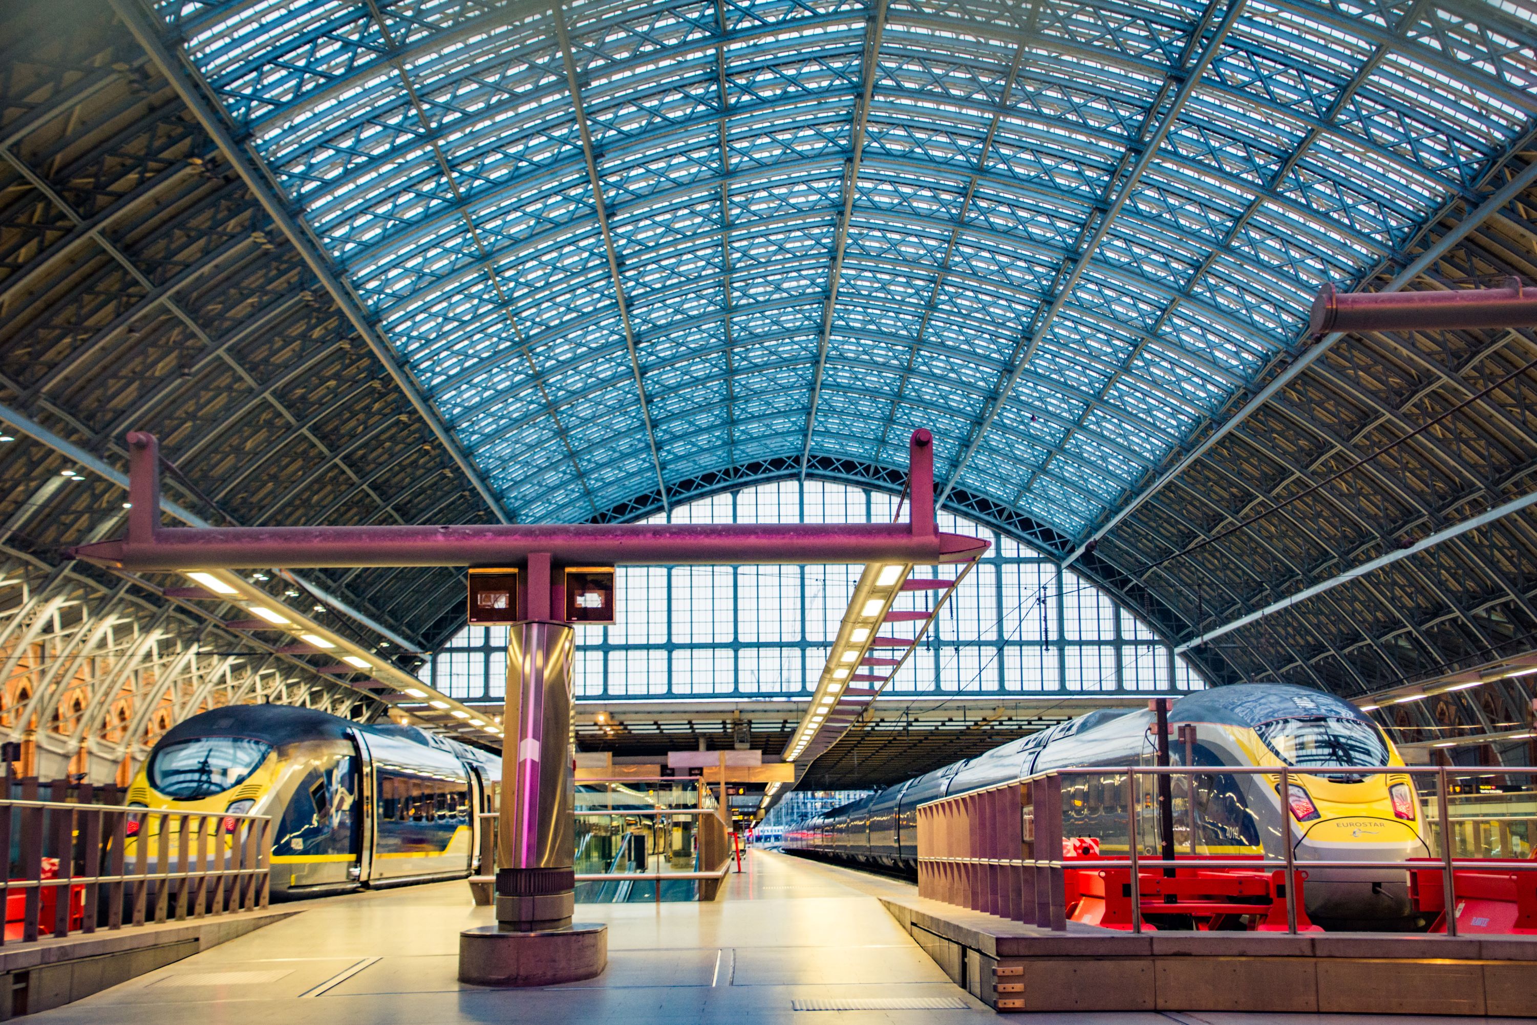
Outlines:
{"label": "short pink pipe jutting in from the right edge, under the roof", "polygon": [[1308,330],[1314,335],[1351,330],[1472,330],[1537,327],[1537,290],[1523,292],[1520,278],[1503,289],[1456,292],[1346,292],[1333,284],[1313,300]]}

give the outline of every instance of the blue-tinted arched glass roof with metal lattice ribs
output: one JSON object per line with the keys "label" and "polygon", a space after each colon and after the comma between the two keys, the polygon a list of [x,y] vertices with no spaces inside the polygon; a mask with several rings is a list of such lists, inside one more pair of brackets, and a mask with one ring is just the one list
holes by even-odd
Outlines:
{"label": "blue-tinted arched glass roof with metal lattice ribs", "polygon": [[1537,112],[1472,0],[158,9],[524,521],[924,426],[1081,538]]}

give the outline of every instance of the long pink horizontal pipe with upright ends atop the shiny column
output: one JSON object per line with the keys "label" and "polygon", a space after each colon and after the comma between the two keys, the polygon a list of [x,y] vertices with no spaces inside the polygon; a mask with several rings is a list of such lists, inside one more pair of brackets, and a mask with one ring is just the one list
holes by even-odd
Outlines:
{"label": "long pink horizontal pipe with upright ends atop the shiny column", "polygon": [[138,432],[128,441],[135,513],[128,536],[80,546],[72,555],[134,572],[520,566],[532,552],[547,552],[567,566],[962,562],[987,549],[987,541],[934,529],[933,440],[927,430],[913,432],[910,444],[915,521],[898,524],[161,527],[158,515],[137,515],[158,493],[158,446],[152,435]]}

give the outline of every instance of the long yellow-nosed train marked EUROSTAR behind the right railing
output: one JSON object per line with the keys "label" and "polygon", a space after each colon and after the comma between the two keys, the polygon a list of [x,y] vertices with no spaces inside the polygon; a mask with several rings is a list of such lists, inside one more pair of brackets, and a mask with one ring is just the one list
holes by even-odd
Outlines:
{"label": "long yellow-nosed train marked EUROSTAR behind the right railing", "polygon": [[[1306,773],[1291,778],[1290,791],[1299,862],[1429,856],[1409,775],[1349,771],[1403,765],[1382,730],[1349,702],[1286,684],[1236,684],[1176,699],[1168,721],[1171,731],[1194,727],[1193,765],[1291,765]],[[1151,765],[1153,724],[1147,710],[1091,712],[832,808],[787,830],[784,848],[916,871],[918,805],[1051,768]],[[1171,738],[1170,748],[1174,765],[1187,764],[1182,744]],[[1105,856],[1127,853],[1124,785],[1111,782],[1070,776],[1062,787],[1064,836],[1105,838]],[[1194,808],[1176,804],[1176,851],[1190,850],[1194,839],[1197,854],[1283,856],[1279,775],[1213,771],[1197,778]],[[1151,808],[1144,816],[1147,822]],[[1119,845],[1108,839],[1116,824]],[[1413,914],[1405,871],[1313,868],[1303,893],[1308,914],[1323,922],[1386,924]]]}

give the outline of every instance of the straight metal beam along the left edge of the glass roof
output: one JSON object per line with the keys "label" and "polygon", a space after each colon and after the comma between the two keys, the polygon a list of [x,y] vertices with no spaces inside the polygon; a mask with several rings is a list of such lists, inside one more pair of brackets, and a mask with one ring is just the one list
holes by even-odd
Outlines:
{"label": "straight metal beam along the left edge of the glass roof", "polygon": [[390,343],[375,329],[352,290],[332,270],[330,260],[324,255],[324,247],[289,214],[287,203],[280,198],[277,186],[272,184],[271,169],[255,152],[255,148],[251,143],[243,146],[235,141],[218,101],[204,94],[201,75],[181,58],[180,51],[174,52],[163,41],[163,26],[158,18],[146,11],[140,0],[109,2],[117,15],[134,34],[134,38],[138,40],[138,45],[144,48],[144,52],[160,68],[160,72],[175,89],[181,101],[197,117],[209,137],[212,137],[214,143],[224,154],[224,158],[229,160],[235,172],[244,180],[246,187],[261,203],[267,217],[287,237],[324,289],[330,292],[337,307],[352,323],[358,337],[373,350],[386,373],[395,381],[397,387],[400,387],[401,393],[427,424],[427,429],[438,438],[449,456],[458,464],[475,490],[480,492],[486,506],[501,522],[512,522],[513,516],[503,506],[501,496],[490,487],[480,469],[460,447],[410,373],[395,361]]}

